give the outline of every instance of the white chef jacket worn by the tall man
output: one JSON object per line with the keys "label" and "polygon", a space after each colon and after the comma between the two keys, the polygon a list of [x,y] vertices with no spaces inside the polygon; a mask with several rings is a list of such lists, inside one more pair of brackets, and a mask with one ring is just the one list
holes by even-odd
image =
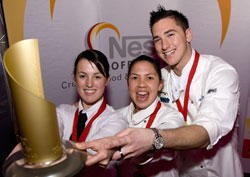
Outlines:
{"label": "white chef jacket worn by the tall man", "polygon": [[[162,69],[164,88],[161,100],[178,110],[176,99],[183,106],[185,87],[194,61],[190,61],[181,77],[168,68]],[[237,151],[237,111],[239,81],[236,70],[221,58],[200,55],[188,100],[187,124],[203,126],[209,135],[206,149],[183,152],[182,177],[242,177]]]}

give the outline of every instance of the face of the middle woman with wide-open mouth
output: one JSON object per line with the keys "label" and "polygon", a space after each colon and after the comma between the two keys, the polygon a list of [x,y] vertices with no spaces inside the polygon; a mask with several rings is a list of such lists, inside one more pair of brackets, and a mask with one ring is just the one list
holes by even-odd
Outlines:
{"label": "face of the middle woman with wide-open mouth", "polygon": [[156,99],[163,83],[154,66],[148,61],[136,62],[130,71],[128,89],[135,111],[145,109]]}

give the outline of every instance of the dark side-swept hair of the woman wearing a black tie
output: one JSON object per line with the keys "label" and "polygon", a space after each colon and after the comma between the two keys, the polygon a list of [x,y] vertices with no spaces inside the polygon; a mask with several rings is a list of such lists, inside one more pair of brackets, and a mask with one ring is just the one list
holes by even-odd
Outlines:
{"label": "dark side-swept hair of the woman wearing a black tie", "polygon": [[73,74],[76,75],[77,64],[80,60],[86,59],[96,65],[98,70],[106,78],[109,77],[109,63],[107,57],[100,51],[94,49],[87,49],[81,52],[75,60]]}

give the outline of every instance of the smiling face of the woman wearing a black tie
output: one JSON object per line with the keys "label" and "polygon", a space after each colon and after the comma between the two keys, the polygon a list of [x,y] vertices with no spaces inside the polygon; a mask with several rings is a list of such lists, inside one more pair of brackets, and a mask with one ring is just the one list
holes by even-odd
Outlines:
{"label": "smiling face of the woman wearing a black tie", "polygon": [[94,105],[104,94],[109,79],[104,77],[96,65],[82,58],[76,67],[75,82],[85,109]]}

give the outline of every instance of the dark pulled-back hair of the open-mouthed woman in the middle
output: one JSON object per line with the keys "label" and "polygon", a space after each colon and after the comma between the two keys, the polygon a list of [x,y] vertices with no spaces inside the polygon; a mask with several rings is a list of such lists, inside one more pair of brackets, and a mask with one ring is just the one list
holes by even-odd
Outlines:
{"label": "dark pulled-back hair of the open-mouthed woman in the middle", "polygon": [[129,68],[128,68],[128,78],[131,74],[131,70],[132,70],[133,66],[140,61],[147,61],[147,62],[151,63],[153,65],[157,75],[159,76],[159,80],[162,80],[161,67],[160,67],[159,61],[150,57],[150,56],[147,56],[147,55],[140,55],[137,58],[135,58],[134,60],[132,60],[132,62],[129,65]]}

